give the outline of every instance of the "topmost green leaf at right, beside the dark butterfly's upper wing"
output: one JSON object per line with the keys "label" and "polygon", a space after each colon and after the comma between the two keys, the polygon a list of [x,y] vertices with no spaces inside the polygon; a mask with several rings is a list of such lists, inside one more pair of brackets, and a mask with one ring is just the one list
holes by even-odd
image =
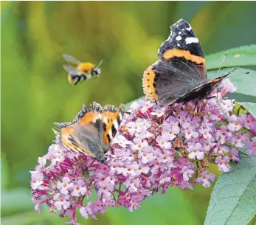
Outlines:
{"label": "topmost green leaf at right, beside the dark butterfly's upper wing", "polygon": [[[221,66],[221,61],[223,60],[226,52],[226,58]],[[223,52],[217,52],[207,55],[205,58],[207,61],[207,70],[218,69],[220,66],[223,68],[256,65],[256,44],[240,46]]]}

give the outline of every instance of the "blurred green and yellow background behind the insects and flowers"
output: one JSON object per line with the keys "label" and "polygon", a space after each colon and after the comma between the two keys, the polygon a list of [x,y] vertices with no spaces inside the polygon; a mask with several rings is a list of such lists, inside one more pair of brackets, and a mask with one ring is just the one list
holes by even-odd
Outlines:
{"label": "blurred green and yellow background behind the insects and flowers", "polygon": [[[30,200],[29,171],[54,139],[53,122],[72,120],[82,103],[141,97],[142,73],[157,59],[170,24],[189,21],[207,55],[254,44],[255,12],[253,1],[1,1],[1,222],[64,224],[44,207],[34,212]],[[63,53],[95,64],[103,59],[102,75],[72,87]],[[111,209],[98,221],[79,221],[203,224],[211,190],[172,188],[140,210]]]}

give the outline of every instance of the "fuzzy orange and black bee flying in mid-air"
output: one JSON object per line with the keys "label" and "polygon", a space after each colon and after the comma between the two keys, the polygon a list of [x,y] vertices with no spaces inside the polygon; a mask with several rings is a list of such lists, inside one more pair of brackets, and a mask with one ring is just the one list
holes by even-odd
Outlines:
{"label": "fuzzy orange and black bee flying in mid-air", "polygon": [[63,58],[68,63],[73,63],[75,66],[64,65],[63,68],[69,73],[69,83],[76,85],[83,82],[83,80],[90,79],[91,77],[98,77],[100,75],[100,65],[103,60],[97,66],[92,63],[82,63],[71,55],[63,54]]}

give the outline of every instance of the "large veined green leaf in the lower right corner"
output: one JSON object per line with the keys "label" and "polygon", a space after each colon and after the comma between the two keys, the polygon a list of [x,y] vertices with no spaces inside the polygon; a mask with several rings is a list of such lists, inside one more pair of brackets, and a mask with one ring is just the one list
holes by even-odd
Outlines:
{"label": "large veined green leaf in the lower right corner", "polygon": [[256,157],[242,158],[229,173],[221,173],[204,225],[248,224],[256,213]]}

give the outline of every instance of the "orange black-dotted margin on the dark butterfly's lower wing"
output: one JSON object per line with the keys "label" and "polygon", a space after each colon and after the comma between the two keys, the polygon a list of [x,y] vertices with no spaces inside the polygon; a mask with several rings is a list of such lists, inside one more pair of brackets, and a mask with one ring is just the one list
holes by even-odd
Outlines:
{"label": "orange black-dotted margin on the dark butterfly's lower wing", "polygon": [[145,70],[142,78],[143,92],[148,100],[156,100],[156,89],[153,86],[156,74],[153,72],[151,67]]}

